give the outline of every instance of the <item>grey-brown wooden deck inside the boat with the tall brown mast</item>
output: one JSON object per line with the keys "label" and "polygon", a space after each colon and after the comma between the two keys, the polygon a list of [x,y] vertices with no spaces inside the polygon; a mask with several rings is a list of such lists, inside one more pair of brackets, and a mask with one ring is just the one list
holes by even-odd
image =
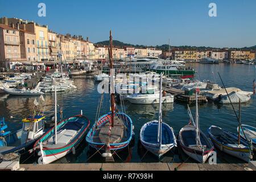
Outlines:
{"label": "grey-brown wooden deck inside the boat with the tall brown mast", "polygon": [[106,122],[105,125],[98,127],[93,137],[93,142],[96,143],[119,143],[125,137],[125,125],[118,117],[114,118],[114,127],[112,127],[109,136],[110,123]]}

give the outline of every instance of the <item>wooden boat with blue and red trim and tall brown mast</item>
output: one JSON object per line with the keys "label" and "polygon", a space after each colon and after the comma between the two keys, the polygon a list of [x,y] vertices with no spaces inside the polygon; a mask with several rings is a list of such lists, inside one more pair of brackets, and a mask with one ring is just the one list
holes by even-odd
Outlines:
{"label": "wooden boat with blue and red trim and tall brown mast", "polygon": [[[105,151],[103,157],[111,158],[112,151],[120,151],[127,147],[133,138],[133,122],[131,118],[117,110],[114,98],[114,76],[113,76],[113,53],[112,53],[112,33],[110,31],[110,107],[111,112],[103,115],[94,123],[86,136],[86,142],[89,146],[95,148],[97,151]],[[103,95],[102,95],[103,96]],[[97,112],[98,113],[98,112]]]}

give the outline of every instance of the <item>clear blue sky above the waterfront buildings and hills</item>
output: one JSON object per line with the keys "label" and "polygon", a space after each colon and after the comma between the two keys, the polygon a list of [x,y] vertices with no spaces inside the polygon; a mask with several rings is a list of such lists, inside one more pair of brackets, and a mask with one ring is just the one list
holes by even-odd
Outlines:
{"label": "clear blue sky above the waterfront buildings and hills", "polygon": [[[47,16],[38,16],[38,3]],[[209,3],[217,17],[208,16]],[[250,47],[256,45],[255,0],[0,0],[0,15],[48,24],[62,34],[155,46]]]}

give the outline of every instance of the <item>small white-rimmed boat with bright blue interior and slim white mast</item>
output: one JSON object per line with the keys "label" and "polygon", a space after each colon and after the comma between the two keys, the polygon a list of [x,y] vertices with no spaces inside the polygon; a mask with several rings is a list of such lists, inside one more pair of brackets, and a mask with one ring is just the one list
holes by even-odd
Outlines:
{"label": "small white-rimmed boat with bright blue interior and slim white mast", "polygon": [[177,146],[174,130],[162,122],[162,84],[163,75],[160,78],[159,120],[144,124],[139,135],[143,147],[158,158]]}

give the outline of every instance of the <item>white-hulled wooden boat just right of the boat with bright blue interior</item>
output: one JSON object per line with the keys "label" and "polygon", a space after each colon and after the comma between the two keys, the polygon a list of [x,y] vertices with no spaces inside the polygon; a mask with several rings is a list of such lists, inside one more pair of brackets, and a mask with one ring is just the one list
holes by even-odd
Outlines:
{"label": "white-hulled wooden boat just right of the boat with bright blue interior", "polygon": [[[193,121],[192,114],[189,109],[189,117],[191,121],[188,125],[184,126],[179,133],[179,143],[182,150],[192,159],[197,162],[205,163],[210,155],[212,155],[214,146],[209,138],[199,129],[199,115],[197,105],[196,89],[196,123]],[[188,107],[189,108],[189,107]]]}

